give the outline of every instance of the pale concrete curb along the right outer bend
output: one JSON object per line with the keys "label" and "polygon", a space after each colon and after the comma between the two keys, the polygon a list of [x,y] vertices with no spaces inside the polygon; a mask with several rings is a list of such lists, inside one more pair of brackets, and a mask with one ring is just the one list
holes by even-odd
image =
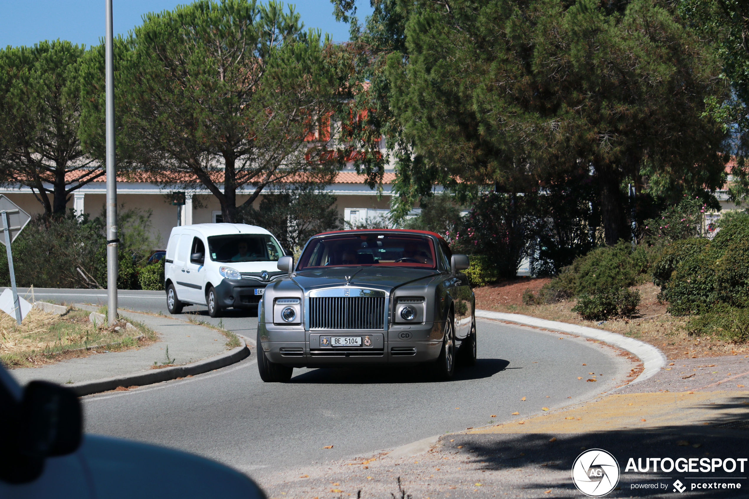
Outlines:
{"label": "pale concrete curb along the right outer bend", "polygon": [[539,319],[537,317],[522,315],[521,313],[503,313],[491,310],[476,310],[476,317],[485,319],[505,320],[517,322],[518,324],[533,325],[538,328],[553,329],[565,333],[577,334],[582,337],[601,340],[612,346],[617,346],[627,352],[631,352],[643,361],[643,372],[629,385],[634,385],[655,376],[660,372],[661,367],[667,364],[666,356],[657,347],[634,338],[626,337],[623,334],[612,333],[611,331],[602,331],[601,329],[588,328],[584,325],[568,324],[567,322],[558,322],[555,320]]}

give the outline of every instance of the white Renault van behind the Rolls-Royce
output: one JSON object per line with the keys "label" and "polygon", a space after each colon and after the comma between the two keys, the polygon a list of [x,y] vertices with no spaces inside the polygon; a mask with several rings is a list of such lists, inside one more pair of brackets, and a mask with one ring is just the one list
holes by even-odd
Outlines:
{"label": "white Renault van behind the Rolls-Royce", "polygon": [[229,307],[256,309],[265,287],[286,272],[285,252],[262,227],[195,224],[174,227],[166,245],[164,289],[169,313],[207,305],[211,317]]}

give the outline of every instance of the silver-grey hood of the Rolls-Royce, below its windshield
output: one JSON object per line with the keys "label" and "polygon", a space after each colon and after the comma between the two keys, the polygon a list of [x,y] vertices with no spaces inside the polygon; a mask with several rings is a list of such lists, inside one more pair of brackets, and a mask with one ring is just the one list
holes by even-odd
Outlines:
{"label": "silver-grey hood of the Rolls-Royce, below its windshield", "polygon": [[377,290],[392,290],[395,287],[420,279],[440,275],[437,270],[408,269],[404,267],[332,267],[295,272],[293,279],[303,290],[319,290],[326,287],[340,287],[346,284],[347,276],[352,287],[369,287]]}

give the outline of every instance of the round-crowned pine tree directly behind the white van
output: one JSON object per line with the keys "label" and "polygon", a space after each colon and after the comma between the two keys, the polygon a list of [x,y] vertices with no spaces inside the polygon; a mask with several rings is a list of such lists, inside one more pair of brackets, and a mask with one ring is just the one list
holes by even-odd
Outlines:
{"label": "round-crowned pine tree directly behind the white van", "polygon": [[[273,183],[330,182],[343,157],[328,146],[345,85],[328,63],[336,47],[302,28],[275,1],[198,0],[146,14],[116,44],[120,161],[162,186],[204,186],[226,222]],[[101,154],[102,47],[85,71],[83,136]]]}

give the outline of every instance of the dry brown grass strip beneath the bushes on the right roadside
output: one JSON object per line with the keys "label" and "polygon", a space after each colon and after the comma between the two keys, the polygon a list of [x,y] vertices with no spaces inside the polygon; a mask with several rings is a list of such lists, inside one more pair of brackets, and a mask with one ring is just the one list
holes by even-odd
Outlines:
{"label": "dry brown grass strip beneath the bushes on the right roadside", "polygon": [[661,303],[656,298],[660,288],[652,283],[640,284],[631,288],[638,290],[642,296],[636,315],[628,319],[610,319],[602,324],[583,320],[577,313],[574,313],[571,310],[575,305],[574,299],[554,304],[523,304],[524,290],[530,288],[530,290],[536,292],[548,281],[548,278],[524,278],[476,288],[473,290],[476,293],[476,308],[497,310],[497,312],[523,313],[541,319],[613,331],[658,346],[670,360],[749,354],[749,347],[745,344],[730,343],[717,337],[689,336],[685,329],[688,317],[676,317],[667,313],[667,304]]}

